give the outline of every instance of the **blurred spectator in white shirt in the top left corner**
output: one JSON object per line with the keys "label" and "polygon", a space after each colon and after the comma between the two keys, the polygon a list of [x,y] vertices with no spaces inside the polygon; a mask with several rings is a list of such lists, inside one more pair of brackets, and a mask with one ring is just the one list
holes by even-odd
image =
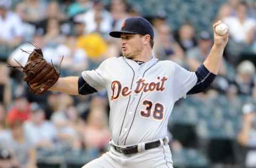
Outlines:
{"label": "blurred spectator in white shirt in the top left corner", "polygon": [[16,47],[22,40],[22,21],[20,17],[10,10],[11,2],[0,1],[0,57],[7,58],[9,49]]}

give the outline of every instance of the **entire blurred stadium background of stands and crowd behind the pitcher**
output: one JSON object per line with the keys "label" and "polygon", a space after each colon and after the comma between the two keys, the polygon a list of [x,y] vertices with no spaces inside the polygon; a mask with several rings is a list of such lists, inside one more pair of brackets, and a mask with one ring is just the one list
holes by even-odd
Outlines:
{"label": "entire blurred stadium background of stands and crowd behind the pitcher", "polygon": [[209,53],[212,23],[228,24],[220,75],[175,104],[170,147],[174,167],[256,167],[255,8],[253,0],[0,0],[0,167],[81,167],[107,150],[106,91],[35,96],[7,63],[24,65],[20,48],[33,50],[30,41],[56,66],[64,55],[62,77],[79,75],[121,54],[108,32],[129,16],[154,25],[155,57],[191,71]]}

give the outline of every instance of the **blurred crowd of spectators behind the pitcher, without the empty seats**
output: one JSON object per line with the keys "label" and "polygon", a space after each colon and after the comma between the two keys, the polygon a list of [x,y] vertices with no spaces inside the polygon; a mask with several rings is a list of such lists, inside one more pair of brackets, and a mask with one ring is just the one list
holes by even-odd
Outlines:
{"label": "blurred crowd of spectators behind the pitcher, without the empty seats", "polygon": [[[211,165],[256,167],[256,2],[223,0],[218,3],[217,13],[210,24],[217,20],[226,23],[229,43],[212,86],[204,93],[189,97],[205,103],[222,96],[238,111],[235,136],[225,138],[236,142],[245,153],[239,158],[229,159],[229,162],[215,161],[205,154]],[[84,70],[97,68],[108,57],[121,56],[119,39],[110,38],[108,33],[121,29],[127,17],[144,16],[155,29],[154,57],[172,60],[190,71],[202,64],[213,44],[212,28],[202,30],[193,21],[186,20],[173,29],[169,22],[171,15],[163,11],[145,15],[140,7],[135,1],[125,0],[0,0],[1,168],[37,167],[37,161],[43,158],[41,154],[45,151],[66,153],[92,149],[97,157],[108,147],[110,131],[106,91],[88,96],[49,91],[36,96],[22,81],[23,74],[19,70],[7,68],[8,64],[24,66],[28,53],[35,47],[42,48],[46,60],[60,69],[62,77],[81,75]],[[243,103],[237,104],[241,97]],[[214,104],[216,102],[212,101],[211,104],[218,106],[223,103],[219,102]],[[179,100],[176,106],[182,105],[183,100]],[[225,112],[222,108],[220,115],[225,115]],[[211,113],[208,115],[213,117]],[[195,146],[191,137],[186,140],[177,138],[175,132],[178,131],[172,132],[180,129],[177,125],[170,122],[173,153],[186,147],[204,152],[202,146]],[[202,130],[204,127],[207,126]],[[186,144],[189,140],[194,145]]]}

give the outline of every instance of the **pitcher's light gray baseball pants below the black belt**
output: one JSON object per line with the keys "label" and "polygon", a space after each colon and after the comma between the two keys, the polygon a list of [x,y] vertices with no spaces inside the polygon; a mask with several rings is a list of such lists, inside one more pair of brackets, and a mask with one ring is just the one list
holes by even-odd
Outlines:
{"label": "pitcher's light gray baseball pants below the black belt", "polygon": [[110,145],[109,152],[87,163],[82,168],[173,168],[169,145],[144,150],[141,153],[124,155]]}

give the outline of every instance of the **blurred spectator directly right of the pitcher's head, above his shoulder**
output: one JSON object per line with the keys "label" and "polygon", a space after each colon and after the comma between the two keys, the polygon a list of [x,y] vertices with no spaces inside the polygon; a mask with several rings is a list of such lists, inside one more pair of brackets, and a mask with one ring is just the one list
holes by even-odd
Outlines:
{"label": "blurred spectator directly right of the pitcher's head, above his shoulder", "polygon": [[179,44],[174,40],[170,26],[162,24],[156,29],[154,53],[161,60],[172,60],[183,63],[184,53]]}

